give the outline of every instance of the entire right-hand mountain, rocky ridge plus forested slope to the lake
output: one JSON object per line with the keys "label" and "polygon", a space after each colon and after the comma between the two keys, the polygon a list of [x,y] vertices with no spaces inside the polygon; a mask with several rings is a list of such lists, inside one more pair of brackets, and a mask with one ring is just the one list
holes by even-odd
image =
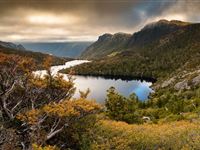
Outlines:
{"label": "entire right-hand mountain, rocky ridge plus forested slope to the lake", "polygon": [[[103,40],[100,36],[82,54],[82,58],[93,59],[93,62],[76,66],[74,71],[80,75],[165,78],[177,69],[184,71],[200,64],[199,31],[199,23],[161,20],[129,38],[121,38],[125,39],[122,43],[110,40],[113,35]],[[108,45],[110,41],[118,43],[120,48]],[[100,43],[102,45],[97,47]]]}

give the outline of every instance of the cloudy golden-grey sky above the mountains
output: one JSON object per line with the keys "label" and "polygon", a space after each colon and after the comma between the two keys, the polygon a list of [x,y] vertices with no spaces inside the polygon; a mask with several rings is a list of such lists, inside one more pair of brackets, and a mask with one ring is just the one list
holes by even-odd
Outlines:
{"label": "cloudy golden-grey sky above the mountains", "polygon": [[200,0],[0,0],[0,40],[95,41],[160,19],[200,22]]}

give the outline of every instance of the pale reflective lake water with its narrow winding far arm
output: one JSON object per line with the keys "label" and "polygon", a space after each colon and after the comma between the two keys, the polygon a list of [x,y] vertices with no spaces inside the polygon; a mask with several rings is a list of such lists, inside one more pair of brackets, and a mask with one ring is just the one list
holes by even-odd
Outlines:
{"label": "pale reflective lake water with its narrow winding far arm", "polygon": [[[87,60],[73,60],[65,63],[65,65],[53,66],[51,71],[53,75],[64,68],[73,67],[82,63],[89,63]],[[46,74],[45,70],[39,70],[34,72],[37,75],[43,76]],[[67,75],[62,74],[65,79]],[[111,87],[115,87],[116,90],[124,96],[129,96],[131,93],[135,93],[139,100],[146,100],[148,95],[153,92],[150,88],[151,82],[141,80],[122,80],[122,79],[105,79],[103,77],[86,77],[86,76],[73,76],[75,78],[76,93],[75,98],[79,97],[79,90],[85,91],[87,88],[90,89],[89,99],[96,99],[99,103],[104,103],[106,98],[106,91]]]}

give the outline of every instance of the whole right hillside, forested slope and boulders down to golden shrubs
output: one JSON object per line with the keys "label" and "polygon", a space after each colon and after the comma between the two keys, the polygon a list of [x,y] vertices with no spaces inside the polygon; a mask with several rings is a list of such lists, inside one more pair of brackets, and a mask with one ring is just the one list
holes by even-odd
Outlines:
{"label": "whole right hillside, forested slope and boulders down to golden shrubs", "polygon": [[200,148],[200,26],[174,23],[181,28],[147,45],[111,52],[72,68],[83,75],[159,79],[153,85],[156,92],[145,102],[110,88],[105,103],[109,119],[100,119],[91,128],[89,140],[82,142],[86,149]]}

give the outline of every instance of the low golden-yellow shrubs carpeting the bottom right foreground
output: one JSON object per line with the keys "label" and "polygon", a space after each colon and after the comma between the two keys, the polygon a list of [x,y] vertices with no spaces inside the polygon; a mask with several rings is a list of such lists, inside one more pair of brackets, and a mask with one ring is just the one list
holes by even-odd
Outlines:
{"label": "low golden-yellow shrubs carpeting the bottom right foreground", "polygon": [[93,129],[91,149],[200,149],[200,123],[130,125],[101,120]]}

